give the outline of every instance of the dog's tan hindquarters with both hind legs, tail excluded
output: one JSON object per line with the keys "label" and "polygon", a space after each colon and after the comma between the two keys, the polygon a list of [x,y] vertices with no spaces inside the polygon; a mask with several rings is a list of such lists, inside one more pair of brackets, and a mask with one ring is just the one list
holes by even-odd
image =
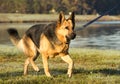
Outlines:
{"label": "dog's tan hindquarters with both hind legs, tail excluded", "polygon": [[31,63],[35,71],[39,71],[39,68],[34,63],[34,58],[36,58],[35,56],[37,54],[37,48],[34,45],[33,41],[25,35],[21,42],[22,43],[20,43],[21,45],[19,45],[19,47],[22,46],[23,52],[25,53],[26,56],[28,56],[24,64],[24,75],[27,74],[27,67],[29,63]]}

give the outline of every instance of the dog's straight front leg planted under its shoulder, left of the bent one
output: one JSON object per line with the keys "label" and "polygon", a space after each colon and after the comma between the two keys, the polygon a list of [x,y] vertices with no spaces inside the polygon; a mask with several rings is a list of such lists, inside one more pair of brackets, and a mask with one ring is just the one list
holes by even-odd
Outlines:
{"label": "dog's straight front leg planted under its shoulder, left of the bent one", "polygon": [[44,72],[46,76],[51,77],[49,73],[49,67],[48,67],[48,56],[42,55],[42,60],[43,60]]}

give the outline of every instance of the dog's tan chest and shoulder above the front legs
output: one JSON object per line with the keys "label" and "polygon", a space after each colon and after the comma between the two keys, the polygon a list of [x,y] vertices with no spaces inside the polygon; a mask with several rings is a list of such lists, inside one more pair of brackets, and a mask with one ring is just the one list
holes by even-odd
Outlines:
{"label": "dog's tan chest and shoulder above the front legs", "polygon": [[69,48],[69,44],[52,43],[44,35],[40,41],[40,52],[50,57],[55,57],[56,55],[68,54],[68,48]]}

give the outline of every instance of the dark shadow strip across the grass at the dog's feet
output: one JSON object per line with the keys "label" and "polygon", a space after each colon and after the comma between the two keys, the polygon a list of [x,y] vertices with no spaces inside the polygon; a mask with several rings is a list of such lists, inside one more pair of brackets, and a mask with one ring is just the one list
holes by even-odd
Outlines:
{"label": "dark shadow strip across the grass at the dog's feet", "polygon": [[[57,75],[65,75],[67,73],[66,69],[51,69],[51,74],[53,76]],[[102,73],[105,75],[120,75],[120,70],[116,69],[96,69],[96,70],[85,70],[85,69],[74,69],[73,74],[96,74],[96,73]],[[45,75],[44,69],[41,69],[40,72],[35,72],[34,70],[29,71],[29,75]],[[23,71],[16,71],[16,72],[7,72],[7,73],[0,73],[0,78],[9,78],[9,77],[18,77],[23,76]]]}

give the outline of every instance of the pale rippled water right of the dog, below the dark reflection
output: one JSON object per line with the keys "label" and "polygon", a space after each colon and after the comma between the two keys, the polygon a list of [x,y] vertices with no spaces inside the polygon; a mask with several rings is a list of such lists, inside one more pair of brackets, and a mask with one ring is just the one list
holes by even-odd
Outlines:
{"label": "pale rippled water right of the dog, below the dark reflection", "polygon": [[77,36],[77,38],[71,42],[71,47],[120,50],[120,32],[114,35],[101,35],[99,37],[89,38]]}

